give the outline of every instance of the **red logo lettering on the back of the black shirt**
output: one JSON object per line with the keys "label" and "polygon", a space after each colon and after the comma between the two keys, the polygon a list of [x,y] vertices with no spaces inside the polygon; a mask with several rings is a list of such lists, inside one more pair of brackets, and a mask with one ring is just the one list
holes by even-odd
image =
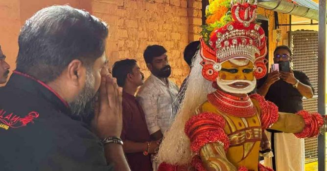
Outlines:
{"label": "red logo lettering on the back of the black shirt", "polygon": [[28,123],[33,123],[33,120],[39,117],[36,111],[29,112],[25,117],[18,116],[13,112],[7,113],[4,109],[0,109],[0,128],[20,128]]}

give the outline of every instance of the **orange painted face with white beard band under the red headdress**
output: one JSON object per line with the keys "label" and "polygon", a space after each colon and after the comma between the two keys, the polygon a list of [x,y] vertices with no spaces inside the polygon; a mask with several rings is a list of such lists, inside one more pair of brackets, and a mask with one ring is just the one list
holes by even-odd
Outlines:
{"label": "orange painted face with white beard band under the red headdress", "polygon": [[246,59],[229,60],[221,64],[217,85],[224,91],[246,94],[251,92],[256,86],[254,77],[254,65]]}

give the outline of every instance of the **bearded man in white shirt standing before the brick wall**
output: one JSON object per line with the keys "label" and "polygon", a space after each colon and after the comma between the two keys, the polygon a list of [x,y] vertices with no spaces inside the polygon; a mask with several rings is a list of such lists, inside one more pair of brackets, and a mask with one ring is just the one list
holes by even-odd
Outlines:
{"label": "bearded man in white shirt standing before the brick wall", "polygon": [[151,45],[144,50],[144,60],[151,75],[137,94],[153,140],[163,137],[179,107],[177,100],[179,88],[168,79],[171,67],[166,52],[160,45]]}

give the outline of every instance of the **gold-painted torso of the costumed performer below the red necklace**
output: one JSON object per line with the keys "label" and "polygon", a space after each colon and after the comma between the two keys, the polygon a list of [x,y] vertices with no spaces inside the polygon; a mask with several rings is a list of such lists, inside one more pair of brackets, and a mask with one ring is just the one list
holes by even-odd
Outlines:
{"label": "gold-painted torso of the costumed performer below the red necklace", "polygon": [[[258,107],[258,106],[257,106]],[[201,106],[201,112],[213,112],[225,119],[224,131],[230,140],[230,148],[226,152],[227,159],[234,166],[245,166],[257,171],[258,151],[262,138],[262,129],[259,112],[249,118],[239,118],[220,112],[210,102]],[[204,150],[205,153],[210,151]]]}

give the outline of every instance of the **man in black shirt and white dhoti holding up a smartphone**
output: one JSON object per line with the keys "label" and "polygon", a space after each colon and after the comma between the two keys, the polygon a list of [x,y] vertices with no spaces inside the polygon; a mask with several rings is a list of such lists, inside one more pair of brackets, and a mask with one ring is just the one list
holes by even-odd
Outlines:
{"label": "man in black shirt and white dhoti holding up a smartphone", "polygon": [[[285,45],[277,46],[274,51],[275,69],[258,80],[257,87],[258,93],[275,103],[280,112],[296,113],[303,109],[303,96],[312,98],[314,89],[304,72],[290,68],[291,62],[291,49]],[[275,171],[304,171],[304,139],[272,131],[271,144]]]}

